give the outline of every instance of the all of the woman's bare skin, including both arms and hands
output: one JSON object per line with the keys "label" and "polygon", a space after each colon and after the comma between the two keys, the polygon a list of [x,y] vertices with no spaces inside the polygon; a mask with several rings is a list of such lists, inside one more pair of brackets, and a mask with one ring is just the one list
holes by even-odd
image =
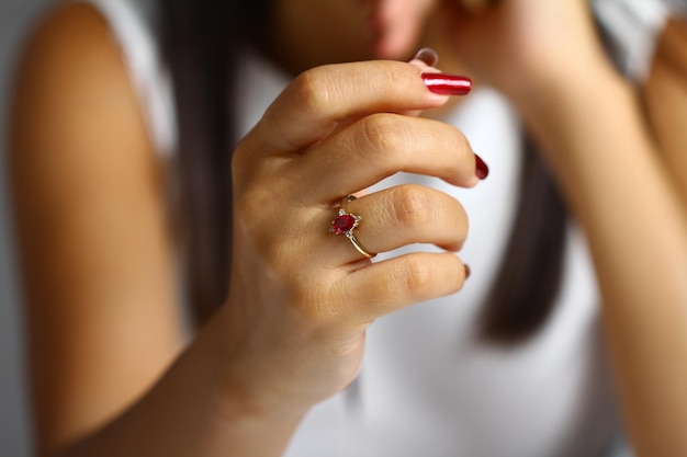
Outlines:
{"label": "all of the woman's bare skin, including both arms and hands", "polygon": [[[371,263],[312,230],[341,195],[397,170],[476,184],[463,135],[408,115],[447,103],[424,87],[419,73],[432,70],[423,62],[302,73],[407,58],[418,43],[402,38],[430,21],[425,38],[444,69],[511,100],[587,233],[639,455],[687,455],[687,373],[676,363],[687,357],[687,205],[684,176],[666,165],[679,148],[656,146],[683,144],[675,119],[654,108],[646,121],[583,2],[506,0],[475,13],[404,0],[403,14],[361,2],[347,9],[351,36],[370,30],[370,15],[387,33],[325,53],[319,44],[340,35],[323,18],[339,20],[340,3],[277,2],[300,13],[274,16],[267,52],[301,76],[235,151],[234,286],[188,344],[161,164],[106,25],[70,4],[38,27],[18,78],[11,172],[41,454],[279,456],[308,409],[354,378],[375,319],[461,288],[452,251],[468,218],[431,188],[365,195],[349,209],[364,215],[357,236],[372,252],[421,241],[443,253]],[[330,15],[306,28],[313,8]],[[665,96],[644,93],[655,105]],[[284,208],[290,224],[274,227]]]}

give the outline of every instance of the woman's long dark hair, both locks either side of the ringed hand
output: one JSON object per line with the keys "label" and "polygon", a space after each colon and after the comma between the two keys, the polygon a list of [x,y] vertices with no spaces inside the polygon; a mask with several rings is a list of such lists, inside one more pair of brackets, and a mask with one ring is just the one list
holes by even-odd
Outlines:
{"label": "woman's long dark hair, both locks either side of the ringed hand", "polygon": [[[205,320],[228,292],[230,260],[230,88],[237,48],[261,35],[270,0],[158,0],[162,43],[177,99],[182,245],[188,300]],[[547,168],[527,142],[521,198],[481,332],[515,344],[537,332],[558,295],[565,206]]]}

